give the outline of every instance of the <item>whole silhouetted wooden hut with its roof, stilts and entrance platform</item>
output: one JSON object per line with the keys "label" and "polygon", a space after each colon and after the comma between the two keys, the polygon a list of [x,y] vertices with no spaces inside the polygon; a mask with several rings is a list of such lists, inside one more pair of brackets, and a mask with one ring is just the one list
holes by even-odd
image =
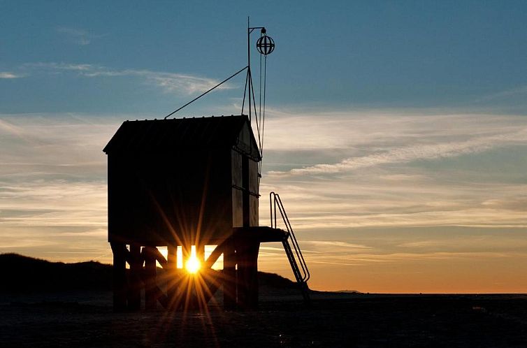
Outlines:
{"label": "whole silhouetted wooden hut with its roof, stilts and entrance platform", "polygon": [[[147,308],[158,300],[175,308],[205,304],[220,285],[225,307],[255,307],[259,244],[289,233],[258,227],[261,156],[248,117],[127,121],[103,151],[115,309],[138,309],[143,284]],[[204,289],[180,284],[176,251],[182,248],[185,263],[192,245],[204,265]],[[207,260],[205,245],[216,246]],[[159,246],[168,248],[167,259]],[[210,269],[220,254],[221,273]],[[157,284],[156,261],[168,273],[166,292]]]}

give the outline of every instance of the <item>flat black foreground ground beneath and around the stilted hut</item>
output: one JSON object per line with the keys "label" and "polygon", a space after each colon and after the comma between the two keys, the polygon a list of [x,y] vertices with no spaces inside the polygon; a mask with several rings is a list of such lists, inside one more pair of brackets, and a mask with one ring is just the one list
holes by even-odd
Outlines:
{"label": "flat black foreground ground beneath and around the stilted hut", "polygon": [[110,296],[2,296],[0,347],[527,347],[524,295],[289,294],[208,314],[113,313]]}

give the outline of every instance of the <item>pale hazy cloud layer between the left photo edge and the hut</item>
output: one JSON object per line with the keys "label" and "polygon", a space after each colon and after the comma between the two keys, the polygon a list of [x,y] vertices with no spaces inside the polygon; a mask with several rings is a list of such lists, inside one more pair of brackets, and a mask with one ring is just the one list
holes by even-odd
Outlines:
{"label": "pale hazy cloud layer between the left photo edge and the hut", "polygon": [[108,253],[102,148],[126,117],[84,116],[0,115],[4,252],[61,261],[78,260],[70,252],[85,252],[82,259]]}

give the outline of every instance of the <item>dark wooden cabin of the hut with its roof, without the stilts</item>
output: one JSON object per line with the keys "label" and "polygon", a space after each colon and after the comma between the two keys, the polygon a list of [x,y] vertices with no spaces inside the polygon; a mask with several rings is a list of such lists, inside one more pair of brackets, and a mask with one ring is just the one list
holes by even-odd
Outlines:
{"label": "dark wooden cabin of the hut with its roof, without the stilts", "polygon": [[127,121],[103,151],[109,242],[217,245],[258,225],[261,157],[246,116]]}

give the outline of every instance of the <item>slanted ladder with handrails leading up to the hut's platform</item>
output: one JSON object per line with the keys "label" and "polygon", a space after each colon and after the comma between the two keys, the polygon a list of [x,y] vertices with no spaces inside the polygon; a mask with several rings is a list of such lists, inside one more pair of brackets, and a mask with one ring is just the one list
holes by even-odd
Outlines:
{"label": "slanted ladder with handrails leading up to the hut's platform", "polygon": [[[294,235],[293,228],[291,227],[291,223],[289,222],[289,218],[285,212],[282,200],[275,192],[271,192],[269,194],[269,205],[270,226],[273,229],[277,229],[277,210],[282,216],[282,221],[284,222],[287,230],[287,236],[284,238],[284,240],[282,240],[282,245],[284,245],[285,254],[287,255],[287,259],[289,259],[289,263],[291,264],[291,269],[293,270],[296,282],[300,287],[304,302],[308,304],[310,303],[308,280],[311,275],[308,270],[308,265],[305,263],[304,256],[302,256],[300,246],[298,245],[298,241]],[[293,246],[292,249],[291,245],[289,245],[289,240],[291,240],[291,245]],[[300,267],[298,267],[298,265],[300,265]]]}

